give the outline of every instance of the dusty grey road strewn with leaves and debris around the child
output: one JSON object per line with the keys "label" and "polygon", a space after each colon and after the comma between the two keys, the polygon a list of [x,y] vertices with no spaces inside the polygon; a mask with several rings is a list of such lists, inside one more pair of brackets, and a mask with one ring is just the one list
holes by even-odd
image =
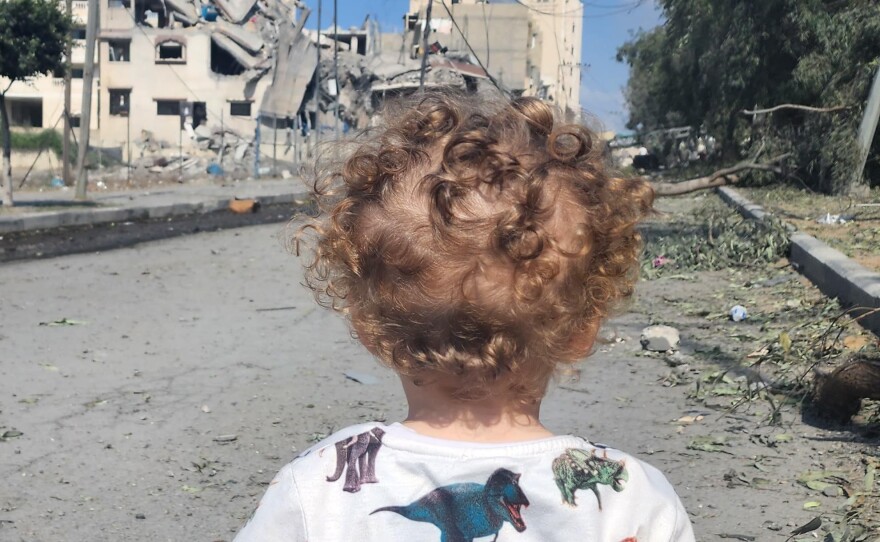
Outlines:
{"label": "dusty grey road strewn with leaves and debris around the child", "polygon": [[[875,352],[876,337],[774,251],[655,267],[706,237],[713,198],[661,200],[648,280],[580,378],[553,387],[545,421],[660,468],[700,541],[880,540],[876,404],[837,425],[802,408],[814,362]],[[401,419],[394,375],[315,306],[283,231],[0,266],[0,540],[228,541],[297,450]],[[645,352],[650,324],[678,328],[680,351]]]}

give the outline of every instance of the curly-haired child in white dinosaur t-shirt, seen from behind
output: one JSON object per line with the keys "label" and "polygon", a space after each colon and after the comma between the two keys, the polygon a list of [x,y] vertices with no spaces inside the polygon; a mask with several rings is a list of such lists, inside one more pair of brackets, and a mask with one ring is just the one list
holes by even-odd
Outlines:
{"label": "curly-haired child in white dinosaur t-shirt, seen from behind", "polygon": [[421,94],[380,124],[316,183],[301,233],[308,285],[409,414],[305,451],[236,541],[693,541],[657,470],[538,418],[632,293],[650,187],[534,98]]}

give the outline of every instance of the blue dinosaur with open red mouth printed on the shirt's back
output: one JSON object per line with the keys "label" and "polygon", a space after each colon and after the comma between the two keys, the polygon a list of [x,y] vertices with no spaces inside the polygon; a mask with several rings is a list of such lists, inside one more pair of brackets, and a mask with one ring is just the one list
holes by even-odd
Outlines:
{"label": "blue dinosaur with open red mouth printed on the shirt's back", "polygon": [[495,535],[504,522],[517,532],[526,530],[520,508],[529,499],[519,487],[520,474],[498,469],[486,484],[463,483],[438,487],[406,506],[385,506],[376,512],[395,512],[412,521],[431,523],[440,529],[440,542],[473,542],[474,538]]}

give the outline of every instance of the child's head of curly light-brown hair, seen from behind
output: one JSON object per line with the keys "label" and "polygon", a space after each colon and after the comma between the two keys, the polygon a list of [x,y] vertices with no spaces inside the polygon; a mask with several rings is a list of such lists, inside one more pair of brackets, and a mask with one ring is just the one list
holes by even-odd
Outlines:
{"label": "child's head of curly light-brown hair, seen from behind", "polygon": [[379,124],[316,183],[307,283],[405,376],[540,399],[632,293],[653,192],[535,98],[428,93]]}

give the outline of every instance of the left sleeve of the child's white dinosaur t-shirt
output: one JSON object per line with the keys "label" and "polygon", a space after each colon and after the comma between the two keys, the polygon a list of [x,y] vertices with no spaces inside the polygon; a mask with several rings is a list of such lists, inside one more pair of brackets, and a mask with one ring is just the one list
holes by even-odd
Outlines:
{"label": "left sleeve of the child's white dinosaur t-shirt", "polygon": [[306,524],[293,470],[275,476],[260,504],[233,542],[306,542]]}

